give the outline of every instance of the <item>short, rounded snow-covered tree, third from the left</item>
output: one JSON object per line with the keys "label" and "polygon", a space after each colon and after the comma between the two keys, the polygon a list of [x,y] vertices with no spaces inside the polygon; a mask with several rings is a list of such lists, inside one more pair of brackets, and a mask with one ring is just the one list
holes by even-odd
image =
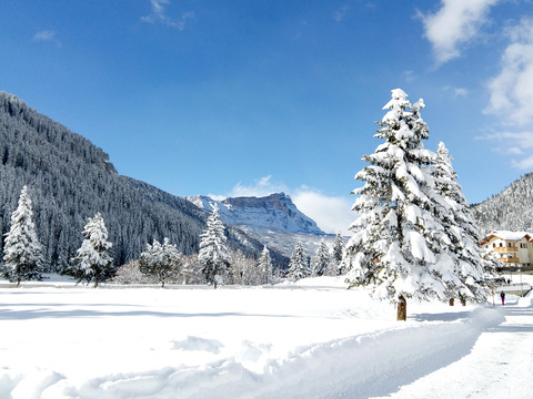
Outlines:
{"label": "short, rounded snow-covered tree, third from the left", "polygon": [[141,254],[139,269],[141,273],[153,276],[164,287],[164,283],[179,275],[182,264],[182,256],[177,246],[170,244],[169,238],[163,239],[163,244],[157,239],[153,244],[147,244],[147,250]]}

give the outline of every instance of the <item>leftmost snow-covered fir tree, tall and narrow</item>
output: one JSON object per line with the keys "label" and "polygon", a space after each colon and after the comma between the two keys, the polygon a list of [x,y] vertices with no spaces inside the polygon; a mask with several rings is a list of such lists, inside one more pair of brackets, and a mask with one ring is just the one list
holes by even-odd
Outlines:
{"label": "leftmost snow-covered fir tree, tall and narrow", "polygon": [[33,223],[33,211],[28,186],[20,193],[19,206],[11,214],[11,228],[6,234],[3,266],[0,275],[17,283],[40,280],[42,272],[42,246]]}

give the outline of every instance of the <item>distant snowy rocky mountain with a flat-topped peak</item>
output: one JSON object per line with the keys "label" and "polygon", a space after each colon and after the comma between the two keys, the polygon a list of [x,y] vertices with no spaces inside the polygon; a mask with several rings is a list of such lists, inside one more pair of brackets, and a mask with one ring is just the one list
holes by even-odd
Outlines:
{"label": "distant snowy rocky mountain with a flat-topped peak", "polygon": [[303,243],[308,256],[314,254],[322,237],[331,242],[334,239],[333,235],[322,232],[312,218],[300,212],[284,193],[223,201],[204,195],[187,198],[207,212],[211,212],[217,204],[222,222],[238,226],[269,248],[286,256],[292,254],[298,239]]}

